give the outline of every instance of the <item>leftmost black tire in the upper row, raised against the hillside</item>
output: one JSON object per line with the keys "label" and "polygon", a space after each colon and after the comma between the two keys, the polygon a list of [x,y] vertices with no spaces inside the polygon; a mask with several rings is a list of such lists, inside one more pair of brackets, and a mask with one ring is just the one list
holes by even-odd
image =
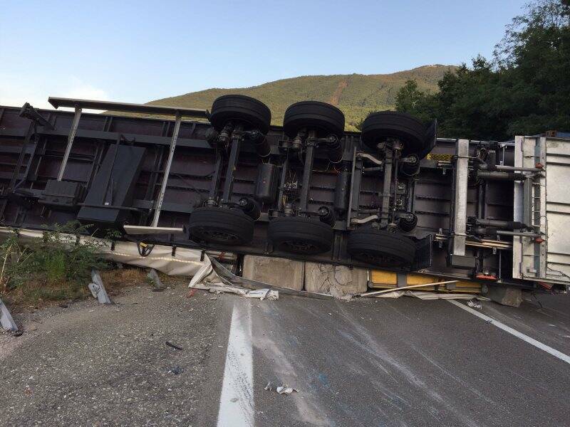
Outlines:
{"label": "leftmost black tire in the upper row, raised against the hillside", "polygon": [[240,122],[245,130],[269,132],[271,110],[263,102],[245,95],[224,95],[214,100],[209,122],[220,131],[229,120]]}

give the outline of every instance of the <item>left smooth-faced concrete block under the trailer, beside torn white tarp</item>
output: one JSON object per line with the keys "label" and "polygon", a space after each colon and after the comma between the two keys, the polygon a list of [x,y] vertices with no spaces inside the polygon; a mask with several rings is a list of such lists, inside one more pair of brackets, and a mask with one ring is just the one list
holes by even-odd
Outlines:
{"label": "left smooth-faced concrete block under the trailer, beside torn white tarp", "polygon": [[304,271],[303,261],[258,255],[244,256],[244,278],[269,285],[302,290]]}

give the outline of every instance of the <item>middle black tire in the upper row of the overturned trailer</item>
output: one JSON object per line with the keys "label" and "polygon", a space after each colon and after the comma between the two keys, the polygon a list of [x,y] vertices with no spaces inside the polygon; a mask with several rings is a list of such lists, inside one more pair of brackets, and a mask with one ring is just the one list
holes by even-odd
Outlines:
{"label": "middle black tire in the upper row of the overturned trailer", "polygon": [[344,114],[326,102],[301,101],[289,105],[283,117],[285,135],[294,138],[304,128],[316,130],[319,138],[333,134],[341,139],[344,134]]}

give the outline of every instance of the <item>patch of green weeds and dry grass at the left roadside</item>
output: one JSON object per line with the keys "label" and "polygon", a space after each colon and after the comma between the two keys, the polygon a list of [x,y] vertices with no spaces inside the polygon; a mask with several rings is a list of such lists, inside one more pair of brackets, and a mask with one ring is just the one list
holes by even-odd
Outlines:
{"label": "patch of green weeds and dry grass at the left roadside", "polygon": [[85,233],[86,226],[78,221],[25,242],[14,230],[0,245],[0,296],[6,304],[35,307],[90,295],[91,270],[109,265],[99,255],[97,244],[79,242],[77,237]]}

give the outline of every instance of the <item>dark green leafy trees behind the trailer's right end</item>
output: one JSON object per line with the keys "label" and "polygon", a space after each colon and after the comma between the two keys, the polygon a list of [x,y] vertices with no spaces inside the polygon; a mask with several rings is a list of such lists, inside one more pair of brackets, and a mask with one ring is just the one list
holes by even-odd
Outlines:
{"label": "dark green leafy trees behind the trailer's right end", "polygon": [[440,136],[509,139],[570,131],[570,0],[539,0],[507,26],[493,60],[446,73],[438,93],[406,82],[396,109],[437,118]]}

